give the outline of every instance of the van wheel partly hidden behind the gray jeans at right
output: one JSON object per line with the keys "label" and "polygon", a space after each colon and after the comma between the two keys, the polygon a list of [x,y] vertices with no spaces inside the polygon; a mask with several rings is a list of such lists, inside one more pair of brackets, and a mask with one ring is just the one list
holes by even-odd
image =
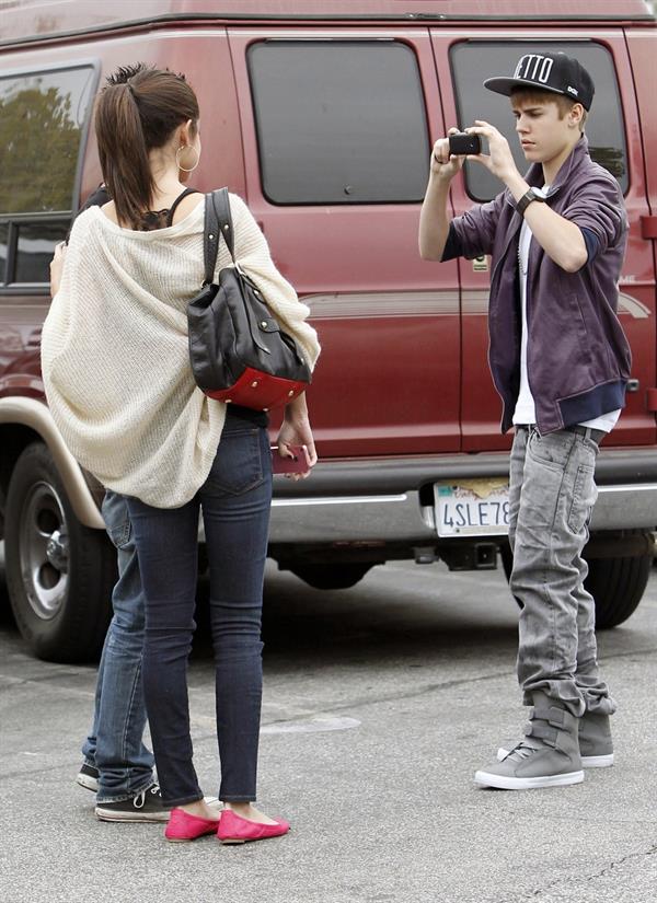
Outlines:
{"label": "van wheel partly hidden behind the gray jeans at right", "polygon": [[[631,542],[645,536],[645,531],[625,531]],[[627,621],[645,592],[654,553],[652,543],[644,544],[649,552],[643,555],[626,555],[612,558],[588,558],[589,572],[584,586],[596,603],[596,628],[603,630],[616,627]],[[514,556],[508,543],[500,546],[502,565],[507,580],[511,576]],[[586,549],[585,549],[586,557]]]}

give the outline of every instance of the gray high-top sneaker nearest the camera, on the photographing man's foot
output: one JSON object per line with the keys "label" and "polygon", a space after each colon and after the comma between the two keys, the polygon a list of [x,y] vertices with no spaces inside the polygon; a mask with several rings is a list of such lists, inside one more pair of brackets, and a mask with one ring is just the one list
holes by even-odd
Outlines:
{"label": "gray high-top sneaker nearest the camera, on the photographing man's foot", "polygon": [[502,762],[476,772],[476,784],[503,790],[531,790],[584,780],[577,739],[579,719],[541,691],[533,693],[532,699],[525,740]]}

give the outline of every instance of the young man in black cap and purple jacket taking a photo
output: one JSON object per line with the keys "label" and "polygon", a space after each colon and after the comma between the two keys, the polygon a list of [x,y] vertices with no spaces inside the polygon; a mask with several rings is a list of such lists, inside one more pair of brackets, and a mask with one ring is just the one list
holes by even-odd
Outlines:
{"label": "young man in black cap and purple jacket taking a photo", "polygon": [[[593,600],[581,558],[596,500],[601,438],[624,406],[630,348],[615,314],[627,223],[615,180],[588,153],[589,73],[564,54],[522,56],[511,78],[484,82],[510,96],[532,164],[523,177],[506,139],[477,120],[469,132],[504,190],[451,222],[450,182],[463,159],[434,146],[419,225],[425,259],[492,256],[489,363],[502,396],[510,462],[511,591],[521,605],[518,679],[533,706],[525,738],[475,774],[483,786],[577,784],[583,764],[611,765],[615,704],[597,662]],[[451,131],[456,131],[452,129]]]}

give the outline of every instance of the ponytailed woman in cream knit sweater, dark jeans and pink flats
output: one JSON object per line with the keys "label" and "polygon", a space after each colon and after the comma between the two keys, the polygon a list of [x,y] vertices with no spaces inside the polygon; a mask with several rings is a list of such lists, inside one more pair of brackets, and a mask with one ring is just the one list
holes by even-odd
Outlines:
{"label": "ponytailed woman in cream knit sweater, dark jeans and pink flats", "polygon": [[[127,497],[146,598],[143,690],[169,840],[215,832],[242,842],[287,832],[257,811],[261,610],[272,462],[267,416],[206,397],[192,375],[186,306],[203,280],[203,195],[185,189],[200,157],[199,111],[184,77],[120,69],[97,97],[95,129],[112,200],[73,225],[53,265],[43,333],[48,403],[80,464]],[[235,256],[312,367],[308,308],[272,263],[245,204],[230,196]],[[217,271],[230,264],[221,243]],[[290,403],[279,453],[306,444],[304,397]],[[197,531],[210,563],[219,814],[192,763],[186,671],[195,628]],[[219,818],[219,825],[217,820]]]}

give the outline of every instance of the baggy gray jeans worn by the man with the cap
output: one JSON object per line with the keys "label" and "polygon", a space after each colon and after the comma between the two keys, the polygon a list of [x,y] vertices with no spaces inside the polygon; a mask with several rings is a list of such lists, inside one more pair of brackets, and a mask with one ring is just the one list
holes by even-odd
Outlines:
{"label": "baggy gray jeans worn by the man with the cap", "polygon": [[597,659],[595,605],[581,551],[598,490],[598,445],[560,430],[518,427],[511,450],[511,592],[522,606],[518,681],[525,705],[542,690],[575,716],[615,709]]}

